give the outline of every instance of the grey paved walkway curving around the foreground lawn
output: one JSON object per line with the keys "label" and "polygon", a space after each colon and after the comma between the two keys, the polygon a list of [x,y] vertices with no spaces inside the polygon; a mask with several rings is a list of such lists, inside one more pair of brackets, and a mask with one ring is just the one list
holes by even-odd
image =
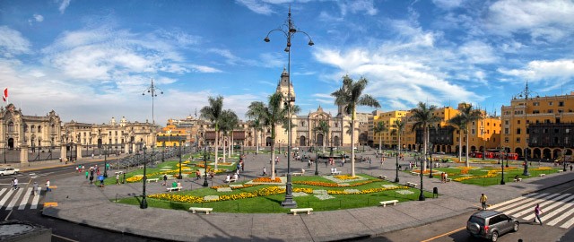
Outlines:
{"label": "grey paved walkway curving around the foreground lawn", "polygon": [[[283,156],[282,156],[283,158]],[[408,161],[402,161],[402,164]],[[280,161],[278,173],[284,171],[285,159]],[[374,162],[373,162],[374,163]],[[244,178],[257,177],[263,167],[269,170],[268,156],[249,155],[246,161]],[[404,165],[403,165],[404,166]],[[328,173],[330,167],[319,165],[321,174]],[[350,164],[345,165],[346,169]],[[304,168],[309,175],[314,170],[307,169],[307,163],[291,162],[292,170]],[[395,178],[395,160],[387,161],[384,169],[369,167],[368,162],[357,163],[357,170],[366,174],[379,174]],[[112,170],[111,172],[113,172]],[[534,177],[520,183],[507,183],[506,186],[468,186],[457,182],[440,183],[439,179],[424,177],[424,188],[431,191],[438,187],[439,198],[427,198],[424,202],[398,203],[396,206],[366,207],[331,212],[302,214],[246,214],[222,213],[193,214],[191,212],[156,208],[140,209],[138,206],[113,203],[116,197],[138,195],[142,185],[126,184],[106,186],[89,185],[83,176],[68,177],[57,181],[49,198],[57,202],[57,207],[45,208],[43,214],[60,220],[92,227],[178,241],[328,241],[345,238],[372,237],[397,229],[406,229],[445,219],[479,207],[481,193],[489,196],[489,203],[500,203],[522,194],[535,192],[549,186],[556,186],[574,179],[574,173],[558,173],[545,177]],[[420,177],[399,172],[400,183],[419,184]],[[222,177],[215,177],[213,185],[221,184]],[[182,183],[184,189],[200,188],[202,181],[193,178]],[[210,184],[211,186],[211,184]],[[165,192],[161,183],[147,186],[148,194]],[[48,197],[48,196],[47,196]],[[109,202],[112,201],[112,202]]]}

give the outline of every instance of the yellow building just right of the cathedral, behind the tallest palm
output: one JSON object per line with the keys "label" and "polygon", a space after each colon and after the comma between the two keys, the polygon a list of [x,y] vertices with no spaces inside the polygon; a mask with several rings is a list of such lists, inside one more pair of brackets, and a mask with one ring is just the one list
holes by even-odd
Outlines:
{"label": "yellow building just right of the cathedral, behind the tallest palm", "polygon": [[[378,147],[380,143],[383,148],[386,149],[396,149],[398,145],[398,134],[393,134],[396,128],[393,127],[396,120],[401,120],[405,117],[409,111],[373,111],[373,116],[369,122],[369,143],[371,146]],[[387,127],[387,131],[375,134],[374,127],[378,123],[383,123]]]}

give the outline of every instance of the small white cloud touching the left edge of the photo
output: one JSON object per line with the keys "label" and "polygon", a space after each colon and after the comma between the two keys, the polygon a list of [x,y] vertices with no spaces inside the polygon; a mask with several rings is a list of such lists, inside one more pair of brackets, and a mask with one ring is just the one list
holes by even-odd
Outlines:
{"label": "small white cloud touching the left edge of the photo", "polygon": [[30,41],[22,37],[22,33],[0,26],[0,55],[13,57],[30,53]]}

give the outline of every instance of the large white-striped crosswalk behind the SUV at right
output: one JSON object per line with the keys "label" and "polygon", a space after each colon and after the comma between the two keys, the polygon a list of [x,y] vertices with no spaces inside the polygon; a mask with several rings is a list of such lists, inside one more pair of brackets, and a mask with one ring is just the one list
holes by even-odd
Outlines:
{"label": "large white-striped crosswalk behind the SUV at right", "polygon": [[540,204],[543,213],[540,218],[544,225],[569,229],[574,224],[574,194],[533,193],[498,203],[489,210],[504,212],[520,220],[533,221],[535,206]]}

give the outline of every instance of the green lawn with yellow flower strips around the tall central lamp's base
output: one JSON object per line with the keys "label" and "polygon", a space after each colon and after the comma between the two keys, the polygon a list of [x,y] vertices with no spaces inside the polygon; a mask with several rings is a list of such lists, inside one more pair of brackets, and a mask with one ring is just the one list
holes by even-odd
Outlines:
{"label": "green lawn with yellow flower strips around the tall central lamp's base", "polygon": [[[313,190],[328,190],[328,191],[341,191],[345,189],[357,189],[360,191],[381,188],[382,185],[394,185],[393,183],[378,180],[374,177],[368,177],[368,180],[372,180],[368,184],[361,186],[346,186],[346,187],[325,187],[325,186],[311,186],[311,185],[300,185],[293,184],[294,189],[300,188],[310,188]],[[293,177],[294,182],[307,181],[307,182],[320,182],[334,184],[334,182],[324,178],[324,177]],[[365,182],[365,180],[349,182],[349,184],[356,184]],[[399,185],[400,186],[400,185]],[[213,188],[202,188],[193,191],[184,191],[178,194],[184,196],[196,196],[204,197],[205,195],[240,195],[245,193],[255,193],[265,188],[273,187],[272,185],[261,185],[261,186],[250,186],[244,188],[233,189],[232,192],[220,193]],[[399,194],[398,190],[408,190],[413,194]],[[284,190],[283,190],[284,191]],[[298,207],[312,207],[314,211],[332,211],[339,209],[351,209],[360,208],[366,206],[376,206],[380,201],[387,200],[398,200],[399,202],[405,201],[416,201],[419,197],[419,190],[416,188],[400,188],[396,190],[387,190],[382,192],[375,192],[370,194],[330,194],[335,197],[332,199],[319,200],[313,194],[308,194],[307,196],[297,196],[294,200],[298,203]],[[432,194],[425,192],[426,197],[431,197]],[[168,194],[166,194],[167,197]],[[268,194],[263,196],[251,197],[251,198],[240,198],[237,200],[226,200],[217,202],[204,202],[204,203],[178,203],[173,202],[168,199],[160,200],[155,198],[147,198],[148,205],[151,207],[158,207],[164,209],[178,209],[186,210],[189,207],[210,207],[213,208],[215,212],[242,212],[242,213],[272,213],[272,212],[289,212],[288,209],[283,209],[281,207],[281,202],[283,202],[284,194]],[[127,203],[138,205],[140,203],[141,197],[129,197],[118,201],[118,203]]]}

